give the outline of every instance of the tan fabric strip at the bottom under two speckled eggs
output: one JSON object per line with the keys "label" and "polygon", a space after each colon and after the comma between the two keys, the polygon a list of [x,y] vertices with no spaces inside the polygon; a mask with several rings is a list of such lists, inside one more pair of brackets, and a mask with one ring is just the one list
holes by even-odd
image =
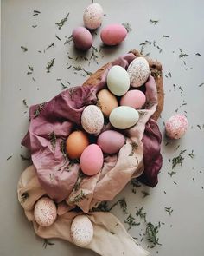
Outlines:
{"label": "tan fabric strip at the bottom under two speckled eggs", "polygon": [[[80,213],[70,211],[65,201],[57,205],[58,216],[52,226],[41,227],[34,220],[35,202],[46,192],[42,189],[35,172],[35,167],[28,167],[21,175],[17,187],[18,200],[24,208],[29,221],[33,221],[35,233],[41,238],[60,238],[73,243],[70,237],[70,226],[73,218]],[[25,196],[26,195],[26,196]],[[92,221],[94,235],[92,242],[86,248],[102,256],[126,255],[145,256],[137,242],[126,232],[124,226],[112,213],[88,213]]]}

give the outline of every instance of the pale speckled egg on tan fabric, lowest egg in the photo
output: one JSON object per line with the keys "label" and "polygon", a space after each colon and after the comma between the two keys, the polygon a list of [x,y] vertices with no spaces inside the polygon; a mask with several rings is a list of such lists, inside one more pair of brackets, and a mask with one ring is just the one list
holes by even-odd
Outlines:
{"label": "pale speckled egg on tan fabric, lowest egg in the photo", "polygon": [[76,246],[84,247],[91,243],[93,226],[86,215],[78,215],[71,224],[71,238]]}

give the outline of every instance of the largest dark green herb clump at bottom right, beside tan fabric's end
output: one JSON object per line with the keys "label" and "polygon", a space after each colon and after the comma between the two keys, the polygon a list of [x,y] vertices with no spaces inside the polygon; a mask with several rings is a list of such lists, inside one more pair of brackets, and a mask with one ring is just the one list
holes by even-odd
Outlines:
{"label": "largest dark green herb clump at bottom right, beside tan fabric's end", "polygon": [[151,246],[150,248],[155,247],[156,245],[161,246],[161,244],[159,243],[159,239],[157,237],[158,232],[159,232],[159,228],[161,227],[160,222],[158,223],[157,226],[154,226],[152,223],[148,222],[147,223],[147,227],[146,227],[146,237],[147,240],[150,242]]}

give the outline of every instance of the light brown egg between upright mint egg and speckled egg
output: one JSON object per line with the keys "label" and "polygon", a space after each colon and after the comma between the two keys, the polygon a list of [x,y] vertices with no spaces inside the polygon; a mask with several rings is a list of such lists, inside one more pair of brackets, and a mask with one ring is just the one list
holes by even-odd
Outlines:
{"label": "light brown egg between upright mint egg and speckled egg", "polygon": [[98,106],[105,116],[109,116],[113,108],[118,107],[118,101],[108,89],[101,89],[97,95]]}

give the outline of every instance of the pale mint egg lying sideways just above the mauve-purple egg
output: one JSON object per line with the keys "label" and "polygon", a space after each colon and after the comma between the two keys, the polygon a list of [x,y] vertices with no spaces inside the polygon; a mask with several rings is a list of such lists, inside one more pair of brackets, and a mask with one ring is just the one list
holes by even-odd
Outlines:
{"label": "pale mint egg lying sideways just above the mauve-purple egg", "polygon": [[112,110],[109,120],[113,127],[118,129],[131,128],[139,120],[139,114],[135,108],[120,106]]}

